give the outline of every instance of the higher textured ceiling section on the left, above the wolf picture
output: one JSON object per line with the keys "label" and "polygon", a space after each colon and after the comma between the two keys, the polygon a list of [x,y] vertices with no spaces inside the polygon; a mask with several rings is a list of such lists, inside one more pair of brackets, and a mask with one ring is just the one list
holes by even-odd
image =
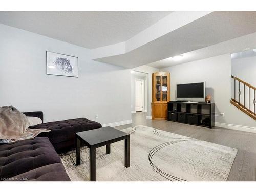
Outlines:
{"label": "higher textured ceiling section on the left, above the wolf picture", "polygon": [[126,41],[171,11],[0,11],[0,23],[81,47]]}

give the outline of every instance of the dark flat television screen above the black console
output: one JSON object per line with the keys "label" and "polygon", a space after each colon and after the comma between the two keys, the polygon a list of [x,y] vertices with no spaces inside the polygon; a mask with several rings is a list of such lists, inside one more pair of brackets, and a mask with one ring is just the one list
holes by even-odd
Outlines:
{"label": "dark flat television screen above the black console", "polygon": [[177,84],[177,98],[204,98],[204,82]]}

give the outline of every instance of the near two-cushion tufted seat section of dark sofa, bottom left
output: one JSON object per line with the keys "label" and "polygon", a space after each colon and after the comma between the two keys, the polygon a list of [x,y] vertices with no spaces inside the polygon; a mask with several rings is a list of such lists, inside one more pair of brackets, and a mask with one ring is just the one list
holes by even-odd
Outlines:
{"label": "near two-cushion tufted seat section of dark sofa, bottom left", "polygon": [[70,181],[47,137],[0,145],[1,181]]}

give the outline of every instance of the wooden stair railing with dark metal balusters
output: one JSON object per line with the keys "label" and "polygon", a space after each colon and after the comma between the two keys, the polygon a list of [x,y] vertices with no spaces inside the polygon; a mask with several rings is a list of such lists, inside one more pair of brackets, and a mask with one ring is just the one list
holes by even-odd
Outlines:
{"label": "wooden stair railing with dark metal balusters", "polygon": [[[232,98],[232,101],[237,103],[239,106],[241,106],[247,112],[251,113],[253,116],[256,116],[255,115],[256,87],[232,75],[231,75],[231,78],[233,79],[233,82],[234,82],[234,86],[232,87],[234,98]],[[241,91],[243,92],[243,94],[241,94],[242,93]],[[238,97],[236,94],[238,94]],[[243,101],[241,101],[241,97]]]}

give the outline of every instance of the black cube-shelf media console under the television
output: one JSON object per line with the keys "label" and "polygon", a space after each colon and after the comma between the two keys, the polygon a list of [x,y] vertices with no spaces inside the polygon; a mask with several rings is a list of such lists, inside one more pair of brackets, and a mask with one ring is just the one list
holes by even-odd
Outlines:
{"label": "black cube-shelf media console under the television", "polygon": [[214,103],[168,102],[168,121],[214,127]]}

